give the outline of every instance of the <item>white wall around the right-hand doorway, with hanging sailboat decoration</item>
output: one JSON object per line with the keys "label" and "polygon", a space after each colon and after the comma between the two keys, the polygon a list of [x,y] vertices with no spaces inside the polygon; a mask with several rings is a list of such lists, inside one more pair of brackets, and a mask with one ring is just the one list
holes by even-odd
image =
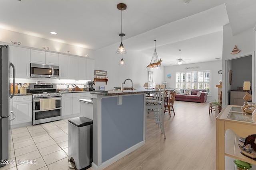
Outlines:
{"label": "white wall around the right-hand doorway, with hanging sailboat decoration", "polygon": [[[231,89],[231,86],[229,85],[229,70],[231,68],[230,60],[236,59],[239,57],[244,57],[248,55],[252,55],[252,61],[255,61],[254,59],[254,51],[255,51],[255,36],[256,33],[253,31],[253,27],[245,30],[242,33],[239,33],[237,35],[232,35],[232,31],[230,28],[230,24],[223,26],[223,58],[222,58],[222,67],[223,67],[223,82],[222,82],[222,104],[225,106],[228,104],[228,90]],[[240,53],[232,55],[230,54],[232,50],[234,49],[234,46],[237,46],[238,49],[240,49]],[[250,62],[247,64],[252,65],[252,97],[254,101],[254,91],[255,91],[255,75],[254,75],[254,69],[255,69],[255,63]]]}

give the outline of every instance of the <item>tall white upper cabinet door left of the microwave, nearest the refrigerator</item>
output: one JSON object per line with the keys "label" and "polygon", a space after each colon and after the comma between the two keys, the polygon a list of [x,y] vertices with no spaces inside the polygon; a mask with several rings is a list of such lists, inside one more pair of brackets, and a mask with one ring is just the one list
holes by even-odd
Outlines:
{"label": "tall white upper cabinet door left of the microwave, nearest the refrigerator", "polygon": [[13,46],[12,63],[16,78],[30,78],[30,49]]}

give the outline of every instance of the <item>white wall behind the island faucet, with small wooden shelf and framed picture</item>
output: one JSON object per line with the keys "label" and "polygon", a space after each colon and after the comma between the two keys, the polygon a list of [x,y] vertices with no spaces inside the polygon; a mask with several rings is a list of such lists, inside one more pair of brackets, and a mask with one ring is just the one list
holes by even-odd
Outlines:
{"label": "white wall behind the island faucet, with small wooden shelf and framed picture", "polygon": [[[118,47],[117,47],[118,48]],[[127,49],[126,49],[127,50]],[[112,51],[96,51],[95,69],[106,70],[108,76],[108,84],[104,82],[96,82],[95,90],[99,86],[105,86],[106,90],[114,87],[121,87],[121,83],[126,78],[132,79],[134,88],[143,87],[148,81],[148,71],[146,66],[150,64],[152,56],[146,56],[139,51],[128,51],[123,55],[126,65],[119,65],[122,55],[116,54],[116,49]],[[162,67],[162,70],[163,67]],[[163,81],[163,71],[161,69],[153,69],[153,83],[161,84]],[[150,83],[152,84],[152,83]],[[131,87],[130,80],[126,81],[124,87]]]}

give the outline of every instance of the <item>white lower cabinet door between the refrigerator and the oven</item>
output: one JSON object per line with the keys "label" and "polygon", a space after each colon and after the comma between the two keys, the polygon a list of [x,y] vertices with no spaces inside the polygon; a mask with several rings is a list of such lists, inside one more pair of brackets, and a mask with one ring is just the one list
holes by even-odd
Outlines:
{"label": "white lower cabinet door between the refrigerator and the oven", "polygon": [[16,118],[13,125],[20,123],[32,123],[32,100],[26,102],[13,102],[12,109]]}

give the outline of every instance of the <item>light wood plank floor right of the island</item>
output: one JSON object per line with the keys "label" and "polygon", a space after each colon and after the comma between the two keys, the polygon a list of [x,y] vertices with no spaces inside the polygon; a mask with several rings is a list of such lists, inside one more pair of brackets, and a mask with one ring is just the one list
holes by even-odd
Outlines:
{"label": "light wood plank floor right of the island", "polygon": [[166,139],[156,124],[147,125],[146,144],[104,170],[215,170],[216,117],[209,102],[174,102],[164,115]]}

